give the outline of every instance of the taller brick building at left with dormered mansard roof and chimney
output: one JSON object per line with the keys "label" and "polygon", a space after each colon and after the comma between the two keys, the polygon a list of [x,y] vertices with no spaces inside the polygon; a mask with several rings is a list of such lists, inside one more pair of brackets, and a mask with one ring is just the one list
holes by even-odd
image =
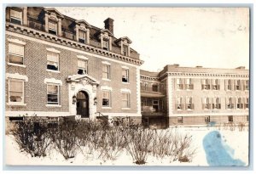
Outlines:
{"label": "taller brick building at left with dormered mansard roof and chimney", "polygon": [[18,115],[141,120],[143,61],[127,37],[55,8],[6,8],[6,117]]}

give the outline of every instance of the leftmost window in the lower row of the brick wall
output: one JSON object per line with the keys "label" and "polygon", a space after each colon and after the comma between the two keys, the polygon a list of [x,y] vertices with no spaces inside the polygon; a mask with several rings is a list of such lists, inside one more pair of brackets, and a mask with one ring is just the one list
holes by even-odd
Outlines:
{"label": "leftmost window in the lower row of the brick wall", "polygon": [[24,81],[9,80],[9,103],[15,102],[24,104]]}

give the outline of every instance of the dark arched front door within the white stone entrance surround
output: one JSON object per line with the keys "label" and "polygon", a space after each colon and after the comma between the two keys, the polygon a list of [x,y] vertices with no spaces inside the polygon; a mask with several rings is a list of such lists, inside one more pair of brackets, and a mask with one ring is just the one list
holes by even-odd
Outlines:
{"label": "dark arched front door within the white stone entrance surround", "polygon": [[89,96],[83,91],[77,94],[77,115],[81,115],[82,118],[89,118]]}

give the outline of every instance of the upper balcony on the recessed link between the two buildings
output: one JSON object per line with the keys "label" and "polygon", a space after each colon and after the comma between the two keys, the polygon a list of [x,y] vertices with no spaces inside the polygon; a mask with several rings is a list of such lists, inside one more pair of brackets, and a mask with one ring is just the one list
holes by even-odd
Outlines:
{"label": "upper balcony on the recessed link between the two buildings", "polygon": [[163,98],[166,95],[159,87],[141,87],[141,96],[147,98]]}

